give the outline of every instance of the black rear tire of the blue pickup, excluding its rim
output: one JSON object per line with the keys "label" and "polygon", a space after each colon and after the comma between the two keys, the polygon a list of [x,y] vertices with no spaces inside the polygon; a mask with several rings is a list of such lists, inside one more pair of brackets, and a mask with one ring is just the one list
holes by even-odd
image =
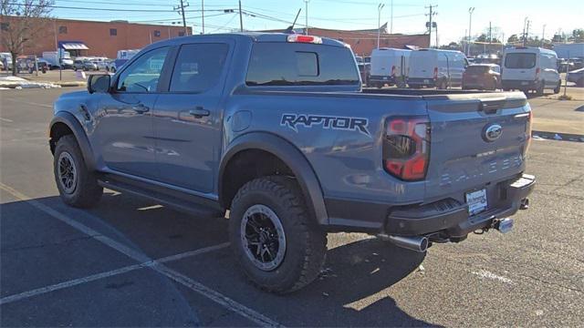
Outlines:
{"label": "black rear tire of the blue pickup, excluding its rim", "polygon": [[[245,211],[261,204],[273,210],[286,236],[286,253],[272,271],[263,271],[245,253],[241,222]],[[247,278],[267,292],[294,292],[314,281],[324,264],[327,236],[312,218],[294,179],[271,176],[251,180],[231,205],[229,237],[235,257]]]}

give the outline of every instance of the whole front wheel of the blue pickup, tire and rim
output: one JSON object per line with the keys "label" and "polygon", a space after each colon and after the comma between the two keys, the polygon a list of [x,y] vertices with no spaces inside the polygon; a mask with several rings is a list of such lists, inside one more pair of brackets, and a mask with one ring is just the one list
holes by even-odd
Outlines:
{"label": "whole front wheel of the blue pickup, tire and rim", "polygon": [[63,202],[73,207],[89,208],[101,199],[103,188],[99,186],[95,173],[87,168],[73,135],[58,139],[53,167]]}

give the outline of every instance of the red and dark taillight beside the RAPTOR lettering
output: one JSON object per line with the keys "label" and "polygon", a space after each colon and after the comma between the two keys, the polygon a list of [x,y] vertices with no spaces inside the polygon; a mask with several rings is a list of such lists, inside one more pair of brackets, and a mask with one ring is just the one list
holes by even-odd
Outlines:
{"label": "red and dark taillight beside the RAPTOR lettering", "polygon": [[383,168],[398,179],[419,180],[425,178],[429,160],[428,118],[388,118],[383,139]]}

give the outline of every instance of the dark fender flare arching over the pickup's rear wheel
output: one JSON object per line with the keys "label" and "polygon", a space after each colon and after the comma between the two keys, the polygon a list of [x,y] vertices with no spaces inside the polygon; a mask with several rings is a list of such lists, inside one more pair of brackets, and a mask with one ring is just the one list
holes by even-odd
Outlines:
{"label": "dark fender flare arching over the pickup's rear wheel", "polygon": [[286,139],[266,132],[247,133],[235,138],[225,149],[219,166],[219,179],[217,179],[219,202],[223,208],[227,207],[224,204],[224,200],[222,200],[224,169],[235,154],[247,149],[264,150],[284,161],[297,178],[298,185],[307,201],[308,209],[312,211],[318,224],[328,224],[328,214],[320,182],[308,159]]}

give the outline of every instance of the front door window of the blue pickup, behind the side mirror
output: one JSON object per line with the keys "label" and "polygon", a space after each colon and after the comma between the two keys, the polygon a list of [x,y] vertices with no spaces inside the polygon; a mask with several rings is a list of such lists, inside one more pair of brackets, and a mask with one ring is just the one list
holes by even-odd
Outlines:
{"label": "front door window of the blue pickup, behind the side mirror", "polygon": [[168,48],[162,47],[140,56],[121,72],[116,89],[120,92],[156,92],[167,54]]}

